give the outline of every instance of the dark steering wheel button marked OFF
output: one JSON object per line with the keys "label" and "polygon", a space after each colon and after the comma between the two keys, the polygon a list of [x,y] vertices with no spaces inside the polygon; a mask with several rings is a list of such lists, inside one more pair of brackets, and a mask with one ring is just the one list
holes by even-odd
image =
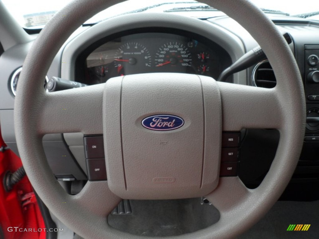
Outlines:
{"label": "dark steering wheel button marked OFF", "polygon": [[89,180],[106,180],[105,159],[86,159],[87,177]]}

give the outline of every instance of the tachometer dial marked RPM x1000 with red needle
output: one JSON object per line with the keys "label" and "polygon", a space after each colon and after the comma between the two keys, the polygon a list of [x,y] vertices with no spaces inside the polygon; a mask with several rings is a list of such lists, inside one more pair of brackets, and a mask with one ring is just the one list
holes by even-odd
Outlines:
{"label": "tachometer dial marked RPM x1000 with red needle", "polygon": [[114,66],[119,75],[136,74],[141,68],[152,66],[151,54],[137,42],[128,42],[119,47],[114,58]]}

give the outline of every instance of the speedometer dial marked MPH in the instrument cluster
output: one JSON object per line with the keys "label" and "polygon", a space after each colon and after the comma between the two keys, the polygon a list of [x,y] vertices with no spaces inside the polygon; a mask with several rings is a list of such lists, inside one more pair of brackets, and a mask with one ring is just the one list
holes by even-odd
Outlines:
{"label": "speedometer dial marked MPH in the instrument cluster", "polygon": [[192,58],[188,48],[180,42],[169,42],[159,47],[155,55],[156,67],[188,67]]}

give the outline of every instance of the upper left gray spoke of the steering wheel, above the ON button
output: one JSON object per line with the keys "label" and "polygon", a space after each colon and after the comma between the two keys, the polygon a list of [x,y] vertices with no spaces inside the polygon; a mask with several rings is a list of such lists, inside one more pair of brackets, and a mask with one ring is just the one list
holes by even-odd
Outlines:
{"label": "upper left gray spoke of the steering wheel, above the ON button", "polygon": [[38,133],[102,133],[104,84],[46,93],[38,118]]}

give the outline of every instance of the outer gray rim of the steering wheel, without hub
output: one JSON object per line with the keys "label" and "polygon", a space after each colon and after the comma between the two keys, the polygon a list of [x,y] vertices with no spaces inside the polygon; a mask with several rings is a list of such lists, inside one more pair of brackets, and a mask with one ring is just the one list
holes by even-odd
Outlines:
{"label": "outer gray rim of the steering wheel, without hub", "polygon": [[[92,206],[88,206],[91,199],[98,196],[97,193],[109,199],[109,208],[118,203],[120,199],[108,188],[101,190],[103,184],[88,182],[84,192],[70,196],[63,192],[52,175],[47,174],[50,169],[42,148],[42,135],[37,133],[39,125],[36,114],[46,107],[41,104],[46,98],[41,82],[62,44],[86,19],[99,12],[101,8],[104,9],[119,2],[114,0],[107,2],[103,0],[74,1],[57,13],[41,31],[26,57],[15,99],[14,123],[17,144],[26,173],[35,191],[61,221],[85,238],[139,237],[106,226],[105,215],[99,214],[99,209],[94,210]],[[263,183],[254,191],[247,189],[245,200],[239,201],[235,208],[226,206],[222,208],[225,211],[225,217],[222,217],[218,223],[195,233],[176,237],[230,238],[259,220],[275,203],[289,182],[302,147],[305,130],[305,100],[300,73],[290,49],[275,25],[259,9],[245,0],[202,2],[234,18],[258,41],[272,63],[278,80],[276,91],[278,91],[278,100],[282,108],[282,114],[278,116],[283,126],[279,129],[281,139],[278,151]],[[55,29],[60,29],[60,31],[57,32]],[[44,189],[47,182],[50,183],[49,191]],[[234,184],[237,183],[237,181],[234,182]],[[219,191],[216,191],[207,196],[212,202],[219,194]],[[82,197],[85,193],[92,195]],[[241,192],[232,192],[231,195],[234,196],[236,193]],[[59,198],[61,202],[51,198]],[[65,208],[62,206],[63,201],[72,202],[72,205]],[[78,210],[81,205],[84,209]],[[234,215],[233,219],[227,216],[230,214]]]}

